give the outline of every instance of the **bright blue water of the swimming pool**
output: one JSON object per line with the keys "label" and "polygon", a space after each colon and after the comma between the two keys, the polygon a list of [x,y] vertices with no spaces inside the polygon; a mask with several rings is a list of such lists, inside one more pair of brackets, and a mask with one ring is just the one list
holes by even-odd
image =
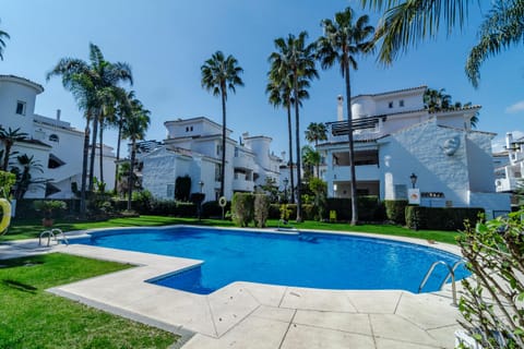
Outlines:
{"label": "bright blue water of the swimming pool", "polygon": [[[309,233],[281,234],[177,227],[111,230],[79,243],[202,260],[192,269],[155,284],[207,294],[234,281],[325,289],[403,289],[417,292],[430,265],[458,257],[384,239]],[[439,265],[424,291],[446,275]],[[460,267],[457,279],[467,276]]]}

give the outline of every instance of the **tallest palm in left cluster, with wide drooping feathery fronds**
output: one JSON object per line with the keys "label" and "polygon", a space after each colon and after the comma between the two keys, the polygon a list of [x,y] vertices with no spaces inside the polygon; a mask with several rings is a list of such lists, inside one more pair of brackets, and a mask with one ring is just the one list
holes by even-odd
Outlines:
{"label": "tallest palm in left cluster, with wide drooping feathery fronds", "polygon": [[93,122],[90,166],[90,191],[92,191],[98,119],[103,110],[103,97],[107,94],[108,88],[116,88],[119,82],[128,81],[132,84],[131,69],[127,63],[110,63],[106,61],[100,49],[96,45],[90,44],[90,63],[81,59],[62,58],[57,65],[47,73],[47,80],[49,81],[50,77],[55,75],[62,76],[62,85],[73,94],[80,109],[84,110],[84,117],[86,119],[81,186],[81,214],[85,214],[90,124]]}

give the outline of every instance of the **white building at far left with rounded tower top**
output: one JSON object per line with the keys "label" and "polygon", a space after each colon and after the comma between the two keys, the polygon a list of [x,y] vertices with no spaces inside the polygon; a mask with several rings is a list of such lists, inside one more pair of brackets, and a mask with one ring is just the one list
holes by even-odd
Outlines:
{"label": "white building at far left with rounded tower top", "polygon": [[[0,125],[5,130],[20,128],[20,132],[27,133],[28,140],[15,143],[13,151],[19,155],[34,156],[44,172],[35,171],[32,177],[48,182],[47,185],[31,185],[24,197],[72,198],[71,184],[75,182],[79,189],[81,185],[84,133],[61,120],[60,110],[57,110],[56,118],[36,115],[36,96],[43,92],[44,87],[26,79],[0,75]],[[99,151],[98,146],[96,153]],[[103,146],[103,154],[104,181],[106,190],[111,190],[115,155],[107,145]],[[15,156],[11,156],[10,163],[15,164]],[[98,156],[94,173],[99,177]]]}

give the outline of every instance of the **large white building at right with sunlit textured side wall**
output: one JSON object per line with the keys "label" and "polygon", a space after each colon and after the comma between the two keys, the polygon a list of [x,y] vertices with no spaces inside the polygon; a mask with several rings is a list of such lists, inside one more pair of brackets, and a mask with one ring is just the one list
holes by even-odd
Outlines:
{"label": "large white building at right with sunlit textured side wall", "polygon": [[[357,194],[407,198],[415,173],[422,206],[483,207],[488,216],[509,212],[509,196],[497,194],[493,185],[495,134],[471,130],[469,120],[480,107],[430,113],[424,109],[425,91],[353,99]],[[349,197],[348,136],[337,133],[341,128],[347,129],[347,121],[330,123],[329,141],[319,151],[326,159],[329,195]]]}

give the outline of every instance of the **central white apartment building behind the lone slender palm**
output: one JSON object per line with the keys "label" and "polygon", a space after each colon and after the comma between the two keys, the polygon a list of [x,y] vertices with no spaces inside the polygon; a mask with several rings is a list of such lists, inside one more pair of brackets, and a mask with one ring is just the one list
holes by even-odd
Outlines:
{"label": "central white apartment building behind the lone slender palm", "polygon": [[[221,189],[222,125],[204,117],[166,121],[167,139],[140,156],[142,185],[158,198],[172,200],[177,177],[191,178],[191,192],[217,200]],[[224,195],[252,192],[267,177],[278,183],[281,159],[270,152],[271,139],[245,133],[241,143],[226,130]],[[202,186],[200,183],[203,183]]]}

